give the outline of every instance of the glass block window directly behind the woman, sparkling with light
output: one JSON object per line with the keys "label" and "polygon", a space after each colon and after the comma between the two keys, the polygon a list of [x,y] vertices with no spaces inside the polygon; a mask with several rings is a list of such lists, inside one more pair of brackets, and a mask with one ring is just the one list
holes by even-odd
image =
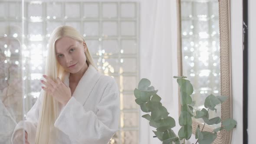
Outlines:
{"label": "glass block window directly behind the woman, sparkling with light", "polygon": [[[23,79],[25,89],[24,95],[20,95],[20,98],[23,98],[24,103],[21,103],[21,106],[24,106],[25,111],[20,108],[21,114],[15,114],[19,115],[20,119],[16,121],[23,118],[22,114],[26,114],[39,96],[42,86],[39,79],[43,79],[42,74],[45,72],[50,34],[57,26],[69,25],[78,29],[84,36],[98,69],[105,75],[112,76],[119,85],[121,106],[119,130],[109,144],[138,144],[139,109],[133,96],[139,74],[138,3],[31,0],[24,2],[23,12],[24,16],[21,15],[20,1],[0,2],[1,29],[13,25],[19,26],[20,30],[18,33],[17,30],[12,31],[15,29],[10,28],[8,33],[0,37],[1,54],[5,55],[3,62],[1,60],[0,63],[3,65],[2,68],[5,68],[4,66],[7,66],[5,64],[9,61],[16,67],[23,63],[23,67],[20,67],[23,77],[20,79]],[[23,38],[20,49],[12,49],[12,45],[19,44],[14,40],[11,44],[2,41],[2,37],[8,36]],[[21,50],[22,60],[18,59]],[[13,59],[7,55],[11,55]],[[7,68],[3,70],[6,71]],[[1,79],[2,81],[7,85],[5,77]]]}

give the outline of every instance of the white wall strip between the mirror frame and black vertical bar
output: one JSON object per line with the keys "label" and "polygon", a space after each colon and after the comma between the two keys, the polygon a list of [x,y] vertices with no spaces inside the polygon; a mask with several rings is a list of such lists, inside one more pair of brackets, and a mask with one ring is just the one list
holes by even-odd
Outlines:
{"label": "white wall strip between the mirror frame and black vertical bar", "polygon": [[243,144],[243,3],[231,0],[231,57],[233,119],[237,127],[233,130],[232,144]]}

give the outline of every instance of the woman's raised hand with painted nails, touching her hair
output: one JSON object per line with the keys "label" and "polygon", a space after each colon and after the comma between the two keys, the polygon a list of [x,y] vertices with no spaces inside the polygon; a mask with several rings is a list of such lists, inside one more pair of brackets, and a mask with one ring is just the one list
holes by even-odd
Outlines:
{"label": "woman's raised hand with painted nails, touching her hair", "polygon": [[54,82],[47,75],[43,75],[43,77],[47,80],[47,82],[41,80],[41,82],[46,86],[42,86],[43,90],[52,95],[53,98],[59,101],[62,105],[66,105],[69,99],[72,97],[70,88],[66,86],[59,78],[57,78],[56,82]]}

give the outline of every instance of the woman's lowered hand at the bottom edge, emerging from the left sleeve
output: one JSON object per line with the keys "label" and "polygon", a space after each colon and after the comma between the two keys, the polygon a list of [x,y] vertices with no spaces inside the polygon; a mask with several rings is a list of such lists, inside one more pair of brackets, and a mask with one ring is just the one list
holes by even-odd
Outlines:
{"label": "woman's lowered hand at the bottom edge, emerging from the left sleeve", "polygon": [[[24,137],[25,134],[25,137]],[[13,138],[13,144],[30,144],[28,141],[28,134],[23,129],[20,129],[15,132],[14,138]]]}

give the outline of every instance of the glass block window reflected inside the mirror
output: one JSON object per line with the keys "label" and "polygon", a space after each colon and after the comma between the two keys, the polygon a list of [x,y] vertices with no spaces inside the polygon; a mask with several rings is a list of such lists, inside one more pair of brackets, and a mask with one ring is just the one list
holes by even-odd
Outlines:
{"label": "glass block window reflected inside the mirror", "polygon": [[[183,75],[194,86],[197,111],[208,95],[220,95],[218,0],[181,0],[181,37]],[[217,114],[209,111],[210,118],[221,115],[220,105],[216,108]]]}

